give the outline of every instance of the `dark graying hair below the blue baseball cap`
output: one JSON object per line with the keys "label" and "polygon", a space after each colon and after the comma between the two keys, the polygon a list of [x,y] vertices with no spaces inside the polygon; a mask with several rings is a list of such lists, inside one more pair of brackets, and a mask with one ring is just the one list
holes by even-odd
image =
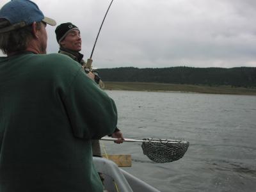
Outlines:
{"label": "dark graying hair below the blue baseball cap", "polygon": [[[1,28],[10,26],[10,22],[6,22],[6,19],[0,19],[0,23],[2,22],[4,25],[1,25]],[[36,22],[36,28],[41,28],[41,22]],[[3,54],[25,51],[28,47],[29,40],[33,38],[33,34],[31,32],[32,29],[30,25],[13,31],[0,33],[0,49]]]}

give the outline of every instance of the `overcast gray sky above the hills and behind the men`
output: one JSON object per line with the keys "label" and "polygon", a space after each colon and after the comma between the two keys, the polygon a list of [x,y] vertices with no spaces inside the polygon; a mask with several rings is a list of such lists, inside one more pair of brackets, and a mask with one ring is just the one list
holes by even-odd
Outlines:
{"label": "overcast gray sky above the hills and behind the men", "polygon": [[[0,0],[0,7],[8,2]],[[34,0],[57,24],[81,30],[87,59],[111,0]],[[47,52],[58,52],[47,26]],[[114,0],[93,66],[256,67],[255,0]]]}

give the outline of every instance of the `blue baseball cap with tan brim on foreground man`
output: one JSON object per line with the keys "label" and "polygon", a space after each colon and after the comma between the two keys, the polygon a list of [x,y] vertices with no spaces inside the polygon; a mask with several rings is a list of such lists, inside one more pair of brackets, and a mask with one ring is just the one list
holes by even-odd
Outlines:
{"label": "blue baseball cap with tan brim on foreground man", "polygon": [[0,22],[0,33],[23,28],[33,22],[43,21],[51,26],[56,25],[55,20],[44,17],[44,13],[38,6],[29,0],[12,0],[4,4],[0,10],[0,19],[6,19],[11,24],[11,26],[1,28],[3,24]]}

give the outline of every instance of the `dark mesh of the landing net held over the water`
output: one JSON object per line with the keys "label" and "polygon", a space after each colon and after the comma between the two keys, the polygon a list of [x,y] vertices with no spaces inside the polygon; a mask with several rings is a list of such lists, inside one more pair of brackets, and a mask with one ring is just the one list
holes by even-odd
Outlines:
{"label": "dark mesh of the landing net held over the water", "polygon": [[148,138],[143,140],[145,140],[141,145],[143,154],[157,163],[177,161],[184,156],[189,147],[188,141]]}

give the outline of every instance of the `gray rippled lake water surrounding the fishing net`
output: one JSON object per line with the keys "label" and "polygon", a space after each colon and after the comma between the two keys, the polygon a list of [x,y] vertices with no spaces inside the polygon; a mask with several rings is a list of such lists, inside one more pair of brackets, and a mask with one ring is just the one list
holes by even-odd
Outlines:
{"label": "gray rippled lake water surrounding the fishing net", "polygon": [[190,143],[182,159],[154,163],[143,155],[141,143],[101,141],[108,154],[132,155],[132,167],[125,171],[163,192],[256,191],[255,96],[107,93],[116,102],[125,138]]}

